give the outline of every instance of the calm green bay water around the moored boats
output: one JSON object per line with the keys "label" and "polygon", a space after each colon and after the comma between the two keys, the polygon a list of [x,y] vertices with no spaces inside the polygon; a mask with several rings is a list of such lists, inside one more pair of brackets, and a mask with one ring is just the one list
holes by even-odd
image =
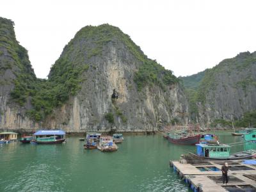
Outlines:
{"label": "calm green bay water around the moored boats", "polygon": [[[222,143],[241,140],[216,134]],[[113,153],[84,150],[74,136],[59,145],[0,145],[0,191],[189,191],[168,162],[195,146],[173,145],[159,134],[124,138]]]}

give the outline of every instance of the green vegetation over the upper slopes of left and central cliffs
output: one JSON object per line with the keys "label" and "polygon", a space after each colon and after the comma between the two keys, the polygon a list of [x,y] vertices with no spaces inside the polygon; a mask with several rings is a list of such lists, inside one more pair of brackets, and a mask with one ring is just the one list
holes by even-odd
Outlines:
{"label": "green vegetation over the upper slopes of left and central cliffs", "polygon": [[[24,106],[26,114],[35,121],[44,120],[55,108],[67,102],[70,96],[76,95],[81,89],[81,82],[86,80],[83,73],[90,67],[94,68],[93,57],[101,58],[109,42],[121,42],[125,50],[134,56],[137,63],[134,82],[138,90],[154,84],[165,90],[166,85],[179,82],[172,71],[148,59],[128,35],[109,24],[86,26],[79,30],[52,65],[48,79],[36,78],[29,63],[28,52],[15,38],[11,20],[0,19],[0,34],[0,45],[4,47],[3,50],[0,49],[1,58],[6,54],[5,51],[12,56],[12,62],[4,61],[0,70],[16,67],[13,70],[15,86],[10,93],[11,98],[15,103]],[[120,109],[116,108],[115,115],[119,116],[122,122],[127,122]],[[106,119],[112,122],[111,114],[107,114]]]}

